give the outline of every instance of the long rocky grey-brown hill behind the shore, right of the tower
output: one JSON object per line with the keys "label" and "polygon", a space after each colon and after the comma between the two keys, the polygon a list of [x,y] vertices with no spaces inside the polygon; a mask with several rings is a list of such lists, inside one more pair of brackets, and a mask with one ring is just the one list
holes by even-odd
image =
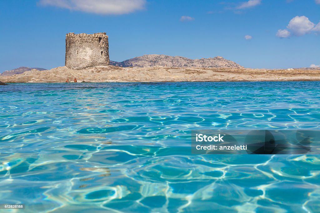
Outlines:
{"label": "long rocky grey-brown hill behind the shore, right of the tower", "polygon": [[214,58],[188,59],[181,56],[143,55],[122,62],[110,61],[118,67],[211,67],[211,68],[244,68],[236,62],[220,56]]}

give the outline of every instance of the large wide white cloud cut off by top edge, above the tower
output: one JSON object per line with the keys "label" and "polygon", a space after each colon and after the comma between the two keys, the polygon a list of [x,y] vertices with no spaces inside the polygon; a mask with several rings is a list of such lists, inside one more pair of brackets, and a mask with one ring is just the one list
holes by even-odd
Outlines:
{"label": "large wide white cloud cut off by top edge, above the tower", "polygon": [[65,8],[70,11],[120,15],[143,9],[146,0],[40,0],[38,4]]}

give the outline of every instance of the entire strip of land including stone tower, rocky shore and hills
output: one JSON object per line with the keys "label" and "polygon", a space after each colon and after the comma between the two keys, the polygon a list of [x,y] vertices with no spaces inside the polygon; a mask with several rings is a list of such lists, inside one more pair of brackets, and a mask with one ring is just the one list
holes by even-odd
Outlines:
{"label": "entire strip of land including stone tower, rocky shore and hills", "polygon": [[68,33],[65,67],[20,67],[0,75],[0,81],[6,83],[65,82],[74,78],[78,82],[319,81],[320,69],[250,69],[220,56],[188,59],[152,54],[116,62],[109,60],[106,33]]}

